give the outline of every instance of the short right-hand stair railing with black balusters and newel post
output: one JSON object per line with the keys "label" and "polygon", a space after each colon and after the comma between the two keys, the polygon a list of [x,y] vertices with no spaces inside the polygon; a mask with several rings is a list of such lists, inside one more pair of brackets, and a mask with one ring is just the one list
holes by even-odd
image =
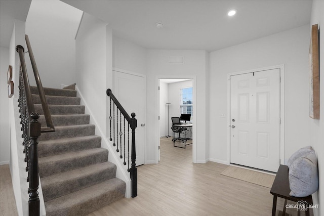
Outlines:
{"label": "short right-hand stair railing with black balusters and newel post", "polygon": [[[132,197],[136,197],[137,196],[137,168],[136,168],[136,147],[135,147],[135,129],[137,127],[137,120],[135,118],[136,115],[133,112],[131,114],[132,117],[130,117],[129,114],[123,108],[123,106],[120,105],[116,97],[112,94],[110,89],[107,89],[106,93],[107,96],[110,97],[110,116],[109,116],[110,141],[113,141],[113,146],[116,147],[116,152],[120,152],[119,157],[121,159],[124,158],[123,164],[124,165],[128,164],[127,170],[130,172],[130,178],[132,180]],[[119,113],[119,117],[118,117],[118,113]],[[128,122],[127,129],[125,126],[126,121]],[[118,122],[119,122],[119,127],[118,127]],[[130,128],[132,129],[131,149],[130,149]],[[127,143],[126,143],[126,132],[127,132]],[[119,141],[119,145],[118,145],[118,141]],[[123,152],[123,147],[124,147],[124,152]],[[131,168],[130,168],[130,150],[131,150],[131,160],[132,160]],[[128,162],[126,162],[126,157],[128,158],[127,159]]]}

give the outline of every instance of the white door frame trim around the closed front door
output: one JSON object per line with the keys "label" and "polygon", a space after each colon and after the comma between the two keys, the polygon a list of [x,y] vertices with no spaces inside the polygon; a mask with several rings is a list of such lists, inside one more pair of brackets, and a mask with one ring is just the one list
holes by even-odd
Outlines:
{"label": "white door frame trim around the closed front door", "polygon": [[285,65],[275,65],[252,70],[238,71],[227,74],[227,162],[230,164],[230,77],[238,74],[260,72],[265,70],[279,69],[280,71],[280,164],[285,163]]}

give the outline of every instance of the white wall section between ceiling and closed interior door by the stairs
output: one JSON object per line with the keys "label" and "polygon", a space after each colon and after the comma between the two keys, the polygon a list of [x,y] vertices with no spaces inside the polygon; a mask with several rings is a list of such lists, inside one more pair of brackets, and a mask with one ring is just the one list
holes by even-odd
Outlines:
{"label": "white wall section between ceiling and closed interior door by the stairs", "polygon": [[112,66],[146,74],[146,49],[128,40],[112,36]]}

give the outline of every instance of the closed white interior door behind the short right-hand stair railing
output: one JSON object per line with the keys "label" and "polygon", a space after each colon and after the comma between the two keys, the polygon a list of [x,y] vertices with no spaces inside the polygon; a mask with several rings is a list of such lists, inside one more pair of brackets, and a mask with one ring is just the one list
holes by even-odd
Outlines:
{"label": "closed white interior door behind the short right-hand stair railing", "polygon": [[[137,128],[135,129],[136,139],[136,165],[144,164],[144,136],[145,136],[145,79],[143,76],[133,75],[124,72],[113,71],[114,88],[113,94],[131,116],[135,113],[137,119]],[[123,124],[123,119],[121,123]],[[131,147],[132,133],[130,133]],[[127,153],[126,153],[127,154]],[[131,154],[131,149],[130,149]],[[130,155],[131,157],[131,155]]]}

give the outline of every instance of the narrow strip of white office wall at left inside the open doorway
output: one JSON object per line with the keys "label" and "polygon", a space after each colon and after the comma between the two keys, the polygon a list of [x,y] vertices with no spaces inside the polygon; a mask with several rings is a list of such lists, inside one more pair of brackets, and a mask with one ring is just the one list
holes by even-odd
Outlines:
{"label": "narrow strip of white office wall at left inside the open doorway", "polygon": [[[159,127],[160,127],[160,137],[165,137],[168,136],[168,106],[166,105],[166,103],[169,103],[169,97],[168,97],[168,92],[169,92],[169,88],[168,88],[168,83],[164,82],[163,79],[160,80],[160,120],[159,120]],[[171,105],[169,105],[171,106]],[[171,108],[171,107],[170,107]],[[169,108],[169,109],[170,109]],[[170,114],[170,111],[169,111]],[[169,124],[171,122],[171,115],[170,119],[169,119]],[[169,136],[171,135],[171,133],[169,132]]]}

